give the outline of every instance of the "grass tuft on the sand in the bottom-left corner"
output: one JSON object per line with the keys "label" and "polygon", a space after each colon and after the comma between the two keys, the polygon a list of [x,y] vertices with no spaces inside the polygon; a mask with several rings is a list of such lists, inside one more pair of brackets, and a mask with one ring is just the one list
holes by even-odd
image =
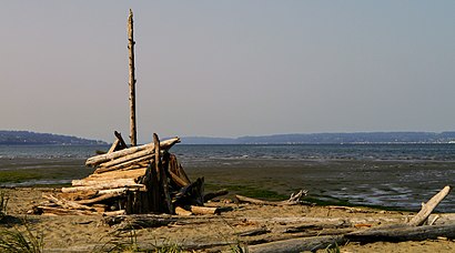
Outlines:
{"label": "grass tuft on the sand in the bottom-left corner", "polygon": [[14,229],[12,231],[0,231],[0,251],[11,253],[41,253],[44,250],[43,233],[33,233],[23,222],[24,231]]}

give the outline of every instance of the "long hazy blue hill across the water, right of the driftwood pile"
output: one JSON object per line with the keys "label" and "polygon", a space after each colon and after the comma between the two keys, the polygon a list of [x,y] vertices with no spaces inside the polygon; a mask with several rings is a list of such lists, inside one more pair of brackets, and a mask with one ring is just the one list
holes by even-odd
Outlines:
{"label": "long hazy blue hill across the water, right of the driftwood pile", "polygon": [[182,138],[182,144],[453,143],[455,132],[295,133],[241,138]]}

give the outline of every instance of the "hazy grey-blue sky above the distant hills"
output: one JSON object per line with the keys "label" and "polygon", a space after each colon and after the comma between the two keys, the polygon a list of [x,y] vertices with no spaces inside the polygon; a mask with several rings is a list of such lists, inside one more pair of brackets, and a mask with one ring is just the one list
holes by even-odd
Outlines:
{"label": "hazy grey-blue sky above the distant hills", "polygon": [[0,129],[160,136],[455,130],[455,1],[2,1]]}

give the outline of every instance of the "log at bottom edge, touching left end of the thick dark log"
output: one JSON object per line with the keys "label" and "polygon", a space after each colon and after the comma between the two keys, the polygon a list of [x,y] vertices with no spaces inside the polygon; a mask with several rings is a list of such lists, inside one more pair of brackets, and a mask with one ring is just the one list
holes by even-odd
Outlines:
{"label": "log at bottom edge, touching left end of the thick dark log", "polygon": [[250,245],[249,252],[261,253],[287,253],[287,252],[302,252],[302,251],[316,251],[320,249],[326,249],[328,245],[345,243],[346,240],[343,235],[325,235],[314,237],[299,237],[290,239],[271,243],[263,243],[257,245]]}

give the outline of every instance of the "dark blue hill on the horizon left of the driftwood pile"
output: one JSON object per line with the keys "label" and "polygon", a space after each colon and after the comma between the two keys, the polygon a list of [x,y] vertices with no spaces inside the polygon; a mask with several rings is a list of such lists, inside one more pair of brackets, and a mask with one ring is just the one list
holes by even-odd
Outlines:
{"label": "dark blue hill on the horizon left of the driftwood pile", "polygon": [[103,141],[87,140],[52,133],[0,130],[0,145],[98,145]]}

